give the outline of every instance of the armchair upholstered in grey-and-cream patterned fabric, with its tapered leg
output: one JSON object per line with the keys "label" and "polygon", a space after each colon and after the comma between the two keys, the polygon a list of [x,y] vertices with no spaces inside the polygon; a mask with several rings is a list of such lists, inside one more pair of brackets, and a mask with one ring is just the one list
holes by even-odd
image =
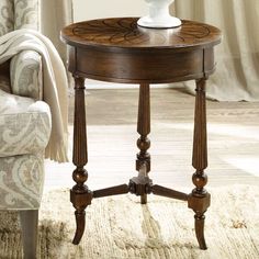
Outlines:
{"label": "armchair upholstered in grey-and-cream patterned fabric, with its tapered leg", "polygon": [[[0,36],[38,29],[38,0],[1,0]],[[24,258],[36,258],[49,106],[41,101],[41,56],[21,52],[0,65],[0,213],[20,212]],[[2,258],[3,255],[0,255]]]}

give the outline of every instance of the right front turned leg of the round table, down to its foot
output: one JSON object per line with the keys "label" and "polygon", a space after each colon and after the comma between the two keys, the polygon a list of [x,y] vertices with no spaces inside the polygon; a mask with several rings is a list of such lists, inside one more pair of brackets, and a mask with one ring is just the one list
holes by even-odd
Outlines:
{"label": "right front turned leg of the round table, down to its foot", "polygon": [[204,189],[204,185],[207,183],[207,177],[204,172],[204,169],[207,167],[205,85],[206,78],[196,80],[192,156],[192,166],[196,169],[192,177],[195,189],[193,189],[188,198],[188,206],[195,212],[195,234],[201,249],[206,249],[204,213],[210,206],[211,201],[211,195]]}

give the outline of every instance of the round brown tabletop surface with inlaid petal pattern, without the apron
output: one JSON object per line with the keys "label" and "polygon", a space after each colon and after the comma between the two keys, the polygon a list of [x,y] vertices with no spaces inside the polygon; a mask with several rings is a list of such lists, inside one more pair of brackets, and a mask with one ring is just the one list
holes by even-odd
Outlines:
{"label": "round brown tabletop surface with inlaid petal pattern, without the apron", "polygon": [[177,29],[146,29],[138,18],[112,18],[74,23],[61,31],[71,46],[115,48],[204,48],[221,42],[222,33],[209,24],[182,21]]}

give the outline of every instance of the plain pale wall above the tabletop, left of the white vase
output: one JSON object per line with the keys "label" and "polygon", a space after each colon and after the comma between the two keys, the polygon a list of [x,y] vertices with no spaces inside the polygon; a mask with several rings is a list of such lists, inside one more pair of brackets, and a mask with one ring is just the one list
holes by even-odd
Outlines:
{"label": "plain pale wall above the tabletop, left of the white vase", "polygon": [[112,16],[140,16],[147,13],[145,0],[74,0],[75,22]]}

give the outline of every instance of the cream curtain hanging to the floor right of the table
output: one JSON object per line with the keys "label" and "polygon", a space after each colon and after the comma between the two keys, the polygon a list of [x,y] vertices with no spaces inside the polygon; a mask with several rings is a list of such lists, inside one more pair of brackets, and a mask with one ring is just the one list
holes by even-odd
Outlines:
{"label": "cream curtain hanging to the floor right of the table", "polygon": [[[174,14],[210,23],[223,32],[209,97],[218,101],[259,101],[259,0],[176,0]],[[187,82],[193,89],[194,82]]]}

